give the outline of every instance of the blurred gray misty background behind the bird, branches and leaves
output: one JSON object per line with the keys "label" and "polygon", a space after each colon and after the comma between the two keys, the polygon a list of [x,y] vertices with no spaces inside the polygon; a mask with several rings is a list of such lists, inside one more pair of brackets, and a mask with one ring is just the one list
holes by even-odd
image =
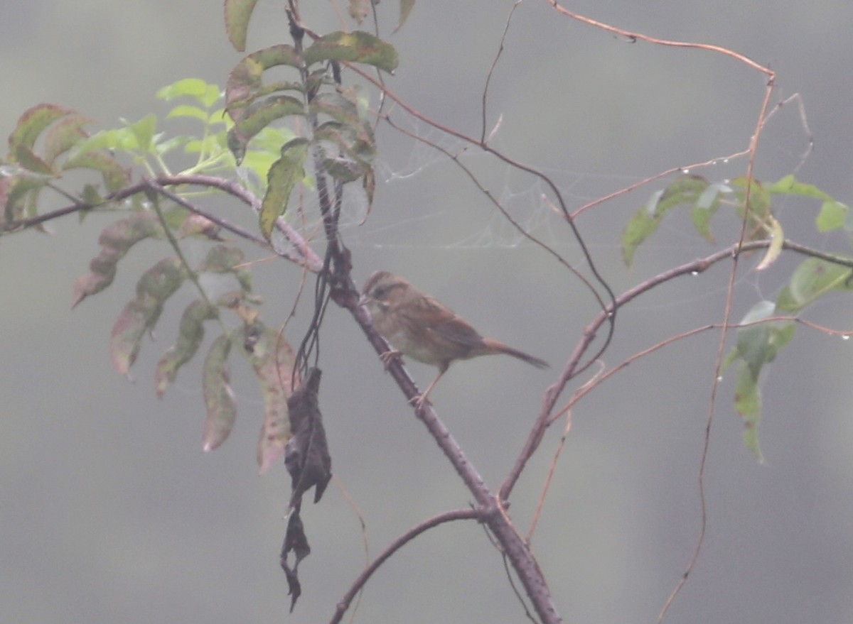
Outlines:
{"label": "blurred gray misty background behind the bird, branches and leaves", "polygon": [[[309,4],[309,3],[306,3]],[[326,3],[306,19],[337,27]],[[212,5],[216,5],[212,8]],[[282,3],[261,0],[249,49],[287,40]],[[511,3],[418,3],[402,32],[393,3],[380,5],[383,33],[400,53],[388,84],[422,113],[479,132],[479,97]],[[798,177],[850,203],[853,4],[723,0],[573,3],[596,20],[657,36],[730,47],[778,72],[774,101],[803,96],[815,150],[796,107],[784,107],[763,138],[757,175]],[[6,0],[0,21],[8,133],[40,101],[73,107],[93,129],[165,114],[154,98],[178,78],[223,84],[241,58],[226,42],[218,2],[144,3]],[[577,208],[644,176],[745,148],[764,78],[720,55],[627,43],[525,0],[514,16],[492,85],[496,145],[552,172]],[[402,115],[398,119],[404,121]],[[409,124],[438,138],[422,124]],[[450,142],[448,147],[462,146]],[[383,180],[368,223],[350,228],[355,274],[387,268],[436,294],[491,336],[547,358],[548,373],[508,358],[452,367],[433,399],[486,481],[512,465],[540,396],[595,303],[565,270],[525,243],[508,246],[492,208],[447,159],[383,130]],[[543,188],[474,158],[494,192],[528,217],[566,257],[580,255],[566,228],[543,209]],[[713,179],[746,163],[717,165]],[[673,219],[641,248],[634,269],[618,261],[625,220],[659,186],[584,215],[578,225],[612,286],[625,288],[705,255],[686,220]],[[59,205],[56,203],[55,205]],[[236,221],[236,202],[212,204]],[[817,206],[782,202],[786,233],[818,242]],[[353,209],[352,221],[357,218]],[[734,232],[728,218],[715,232]],[[152,371],[171,344],[171,308],[146,343],[135,384],[113,372],[107,337],[139,272],[165,246],[134,250],[115,284],[69,309],[73,280],[97,253],[107,217],[55,234],[4,237],[3,364],[0,369],[0,619],[73,621],[326,621],[363,567],[357,517],[334,486],[305,522],[313,547],[300,567],[304,594],[294,615],[278,567],[289,482],[283,467],[258,477],[261,404],[235,361],[239,417],[232,436],[202,454],[199,366],[180,374],[162,401]],[[489,239],[488,237],[493,237]],[[200,250],[200,248],[199,248]],[[200,253],[199,250],[196,250]],[[190,250],[192,254],[193,251]],[[746,260],[734,318],[782,275],[755,275]],[[264,315],[280,322],[298,276],[280,262],[258,267]],[[682,279],[620,313],[609,365],[673,333],[722,318],[728,266]],[[189,294],[184,301],[189,300]],[[853,329],[848,300],[809,309],[809,319]],[[183,306],[182,306],[183,307]],[[295,339],[306,309],[294,321]],[[434,513],[467,506],[466,492],[427,438],[374,354],[338,309],[322,343],[322,411],[334,471],[363,512],[370,552]],[[740,442],[731,379],[717,403],[706,473],[704,551],[676,599],[670,622],[850,622],[853,613],[853,422],[851,345],[798,329],[764,380],[760,440],[766,465]],[[624,370],[574,413],[543,520],[533,540],[567,621],[654,621],[682,575],[699,532],[697,471],[717,337],[683,341]],[[410,371],[426,384],[432,369]],[[514,519],[526,530],[560,436],[555,427],[519,483]],[[368,585],[358,621],[522,621],[497,552],[473,524],[444,526],[407,546]]]}

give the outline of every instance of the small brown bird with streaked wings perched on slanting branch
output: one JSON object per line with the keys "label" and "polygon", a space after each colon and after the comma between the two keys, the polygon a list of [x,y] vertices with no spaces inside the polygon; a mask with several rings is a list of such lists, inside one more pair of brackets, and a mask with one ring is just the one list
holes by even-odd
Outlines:
{"label": "small brown bird with streaked wings perched on slanting branch", "polygon": [[401,354],[438,367],[438,376],[432,384],[423,394],[412,399],[418,409],[427,402],[429,393],[456,360],[503,353],[537,368],[549,366],[547,361],[513,349],[494,338],[483,338],[444,303],[388,271],[376,271],[370,276],[358,303],[367,307],[376,331],[393,348],[380,355],[386,367]]}

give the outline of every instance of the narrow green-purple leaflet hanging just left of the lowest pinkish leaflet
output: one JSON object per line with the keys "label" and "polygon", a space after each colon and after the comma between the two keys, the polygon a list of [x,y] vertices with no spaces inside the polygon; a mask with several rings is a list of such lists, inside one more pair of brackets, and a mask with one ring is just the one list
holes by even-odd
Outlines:
{"label": "narrow green-purple leaflet hanging just left of the lowest pinkish leaflet", "polygon": [[202,390],[205,396],[207,417],[201,435],[201,448],[212,451],[231,433],[237,416],[234,390],[231,390],[231,375],[228,355],[231,350],[231,337],[219,336],[211,344],[205,357],[201,375]]}

